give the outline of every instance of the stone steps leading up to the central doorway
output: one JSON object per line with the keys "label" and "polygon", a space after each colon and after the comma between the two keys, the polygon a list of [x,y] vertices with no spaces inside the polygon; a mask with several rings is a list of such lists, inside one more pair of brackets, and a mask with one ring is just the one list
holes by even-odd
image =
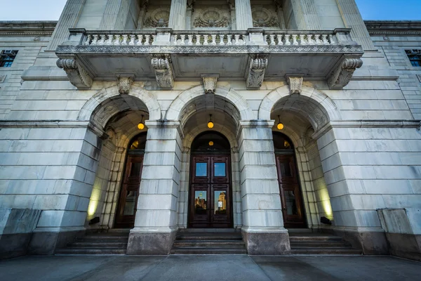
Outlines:
{"label": "stone steps leading up to the central doorway", "polygon": [[247,254],[241,232],[234,229],[186,229],[175,238],[171,254]]}

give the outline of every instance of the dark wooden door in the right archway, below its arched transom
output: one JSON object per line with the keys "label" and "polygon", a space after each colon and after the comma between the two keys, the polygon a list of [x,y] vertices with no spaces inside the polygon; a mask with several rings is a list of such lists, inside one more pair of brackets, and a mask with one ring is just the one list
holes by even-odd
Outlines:
{"label": "dark wooden door in the right archway, below its arched transom", "polygon": [[302,197],[294,155],[276,155],[283,223],[286,228],[304,228]]}

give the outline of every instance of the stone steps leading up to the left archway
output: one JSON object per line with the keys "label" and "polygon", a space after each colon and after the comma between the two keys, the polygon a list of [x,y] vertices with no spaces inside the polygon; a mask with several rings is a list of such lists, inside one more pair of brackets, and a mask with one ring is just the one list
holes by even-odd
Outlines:
{"label": "stone steps leading up to the left archway", "polygon": [[126,254],[128,233],[95,233],[85,235],[65,248],[57,249],[56,255]]}

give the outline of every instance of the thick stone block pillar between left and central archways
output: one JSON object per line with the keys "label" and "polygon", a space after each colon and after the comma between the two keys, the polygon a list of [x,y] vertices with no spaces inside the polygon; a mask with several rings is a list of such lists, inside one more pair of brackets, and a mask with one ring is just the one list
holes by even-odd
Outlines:
{"label": "thick stone block pillar between left and central archways", "polygon": [[182,159],[179,122],[146,122],[148,127],[135,228],[127,254],[169,254],[178,230]]}

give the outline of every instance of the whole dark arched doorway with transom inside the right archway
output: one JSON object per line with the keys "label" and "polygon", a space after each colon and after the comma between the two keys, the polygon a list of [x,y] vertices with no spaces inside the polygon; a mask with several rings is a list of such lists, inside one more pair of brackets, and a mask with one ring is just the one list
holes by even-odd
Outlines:
{"label": "whole dark arched doorway with transom inside the right archway", "polygon": [[273,132],[283,223],[286,228],[305,228],[305,214],[298,179],[293,142],[283,133]]}

